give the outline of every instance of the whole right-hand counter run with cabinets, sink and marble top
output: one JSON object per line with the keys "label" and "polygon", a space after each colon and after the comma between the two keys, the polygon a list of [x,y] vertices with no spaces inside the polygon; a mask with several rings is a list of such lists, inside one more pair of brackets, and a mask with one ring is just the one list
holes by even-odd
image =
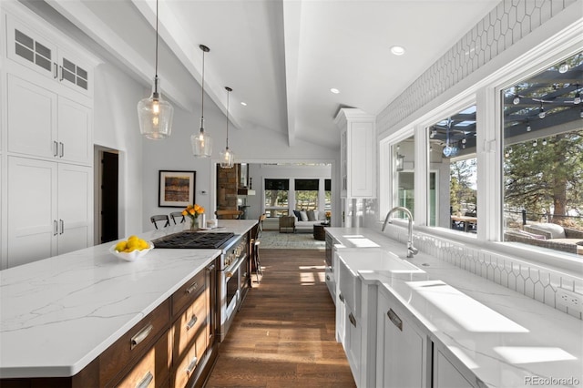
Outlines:
{"label": "whole right-hand counter run with cabinets, sink and marble top", "polygon": [[336,284],[337,338],[357,385],[583,386],[583,321],[424,252],[405,259],[405,243],[380,231],[326,232],[337,244],[337,282],[363,260],[418,270],[358,270],[356,301]]}

